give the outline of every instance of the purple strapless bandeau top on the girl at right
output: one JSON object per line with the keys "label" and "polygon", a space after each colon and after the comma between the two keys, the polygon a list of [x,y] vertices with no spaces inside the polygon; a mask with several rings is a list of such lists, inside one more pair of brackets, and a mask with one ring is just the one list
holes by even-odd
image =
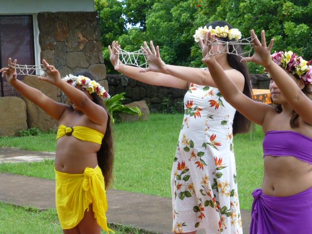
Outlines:
{"label": "purple strapless bandeau top on the girl at right", "polygon": [[312,138],[292,131],[269,131],[263,140],[263,156],[294,156],[312,164]]}

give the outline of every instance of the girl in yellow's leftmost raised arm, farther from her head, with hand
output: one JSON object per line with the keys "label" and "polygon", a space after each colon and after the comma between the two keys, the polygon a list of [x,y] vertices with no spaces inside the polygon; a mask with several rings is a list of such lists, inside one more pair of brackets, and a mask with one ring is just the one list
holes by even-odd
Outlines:
{"label": "girl in yellow's leftmost raised arm, farther from her head, with hand", "polygon": [[[14,60],[17,63],[17,60]],[[9,65],[12,65],[11,58],[9,59]],[[29,99],[37,106],[39,106],[44,112],[56,120],[59,120],[64,111],[69,108],[63,103],[54,101],[53,99],[44,95],[38,89],[35,89],[24,82],[16,78],[16,70],[12,67],[4,67],[0,70],[2,77],[5,76],[6,80],[25,98]]]}

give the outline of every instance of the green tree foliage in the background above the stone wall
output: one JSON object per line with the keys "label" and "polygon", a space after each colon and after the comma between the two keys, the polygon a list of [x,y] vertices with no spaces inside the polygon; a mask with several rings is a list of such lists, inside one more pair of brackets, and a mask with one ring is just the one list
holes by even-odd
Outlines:
{"label": "green tree foliage in the background above the stone wall", "polygon": [[[164,62],[203,67],[200,49],[193,38],[195,29],[214,20],[226,20],[238,28],[244,38],[250,36],[251,29],[258,37],[261,30],[265,30],[267,40],[275,41],[272,52],[292,50],[306,60],[312,59],[311,0],[123,0],[112,3],[116,1],[100,1],[114,5],[112,9],[102,10],[112,13],[99,15],[100,21],[107,24],[108,35],[103,34],[102,29],[104,47],[118,40],[124,49],[136,51],[144,40],[153,40],[159,45]],[[118,21],[117,16],[122,13]],[[127,28],[126,23],[133,27]],[[104,55],[106,64],[110,64],[107,49]],[[263,68],[253,63],[249,68],[251,73],[263,72]],[[109,68],[108,72],[114,71]]]}

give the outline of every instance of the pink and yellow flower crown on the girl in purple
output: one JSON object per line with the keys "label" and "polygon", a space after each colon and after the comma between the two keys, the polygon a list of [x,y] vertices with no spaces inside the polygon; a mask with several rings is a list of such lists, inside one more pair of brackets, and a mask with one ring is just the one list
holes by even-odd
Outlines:
{"label": "pink and yellow flower crown on the girl in purple", "polygon": [[[271,55],[271,58],[277,65],[285,68],[285,70],[291,72],[292,74],[297,75],[300,79],[303,79],[305,84],[309,85],[309,91],[312,92],[312,66],[310,65],[311,61],[308,62],[302,59],[301,56],[298,57],[292,51],[275,52],[273,55]],[[266,73],[270,77],[270,74],[268,72]]]}

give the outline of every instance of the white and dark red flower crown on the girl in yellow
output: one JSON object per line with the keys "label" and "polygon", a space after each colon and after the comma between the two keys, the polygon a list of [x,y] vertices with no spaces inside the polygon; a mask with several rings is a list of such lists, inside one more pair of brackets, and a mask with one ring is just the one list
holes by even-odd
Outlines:
{"label": "white and dark red flower crown on the girl in yellow", "polygon": [[62,80],[66,81],[67,83],[73,85],[74,87],[78,84],[80,85],[83,89],[89,91],[90,94],[96,92],[98,97],[102,99],[109,99],[110,96],[106,92],[106,90],[100,86],[100,84],[95,81],[91,80],[90,78],[84,77],[84,76],[74,76],[72,74],[69,74],[68,76],[62,78]]}

